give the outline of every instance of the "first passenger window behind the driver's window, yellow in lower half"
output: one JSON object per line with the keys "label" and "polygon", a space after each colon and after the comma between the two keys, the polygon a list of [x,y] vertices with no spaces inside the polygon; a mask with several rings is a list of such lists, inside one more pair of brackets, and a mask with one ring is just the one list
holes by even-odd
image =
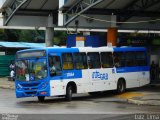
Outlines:
{"label": "first passenger window behind the driver's window, yellow in lower half", "polygon": [[62,60],[63,60],[63,69],[64,70],[73,69],[72,53],[63,53],[62,54]]}

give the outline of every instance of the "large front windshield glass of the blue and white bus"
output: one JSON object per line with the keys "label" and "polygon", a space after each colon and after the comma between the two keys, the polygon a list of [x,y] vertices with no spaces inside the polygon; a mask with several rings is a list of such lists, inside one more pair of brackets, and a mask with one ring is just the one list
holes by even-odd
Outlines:
{"label": "large front windshield glass of the blue and white bus", "polygon": [[19,60],[16,62],[16,79],[34,81],[47,76],[46,59]]}

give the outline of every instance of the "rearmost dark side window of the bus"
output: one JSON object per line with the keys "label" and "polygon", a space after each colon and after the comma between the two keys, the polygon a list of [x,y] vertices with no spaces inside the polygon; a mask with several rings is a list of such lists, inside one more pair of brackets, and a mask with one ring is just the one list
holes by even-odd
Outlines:
{"label": "rearmost dark side window of the bus", "polygon": [[136,62],[138,66],[146,66],[147,65],[147,56],[145,52],[136,52]]}

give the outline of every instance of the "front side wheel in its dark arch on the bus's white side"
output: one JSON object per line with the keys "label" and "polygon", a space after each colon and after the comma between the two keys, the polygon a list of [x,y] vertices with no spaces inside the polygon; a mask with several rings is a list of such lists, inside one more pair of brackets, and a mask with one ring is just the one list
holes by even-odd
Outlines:
{"label": "front side wheel in its dark arch on the bus's white side", "polygon": [[72,100],[72,94],[77,93],[77,86],[74,82],[69,82],[66,87],[66,100],[71,101]]}

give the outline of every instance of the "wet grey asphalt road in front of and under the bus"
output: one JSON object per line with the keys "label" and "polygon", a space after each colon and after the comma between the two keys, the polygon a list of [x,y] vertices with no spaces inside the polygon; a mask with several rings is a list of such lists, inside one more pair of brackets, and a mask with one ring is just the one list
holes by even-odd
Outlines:
{"label": "wet grey asphalt road in front of and under the bus", "polygon": [[16,115],[18,120],[135,120],[139,118],[135,115],[147,118],[150,114],[160,119],[160,107],[129,104],[114,92],[97,97],[75,95],[71,102],[51,97],[40,103],[36,97],[17,99],[13,90],[0,89],[0,113],[2,120]]}

